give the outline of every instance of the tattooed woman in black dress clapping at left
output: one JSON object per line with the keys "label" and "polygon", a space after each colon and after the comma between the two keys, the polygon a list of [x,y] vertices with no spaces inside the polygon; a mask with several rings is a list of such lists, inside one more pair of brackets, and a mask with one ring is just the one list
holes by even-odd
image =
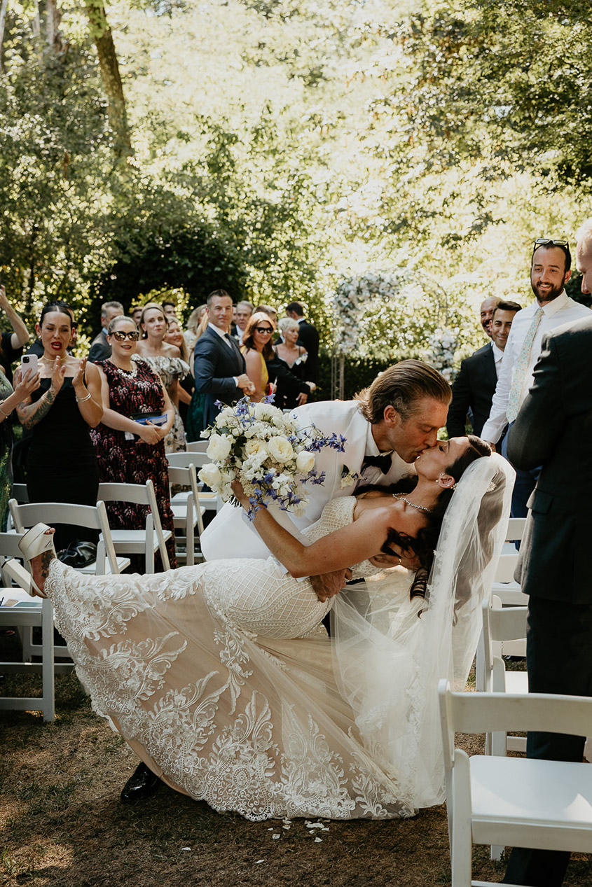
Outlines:
{"label": "tattooed woman in black dress clapping at left", "polygon": [[[36,324],[43,345],[39,360],[40,387],[17,407],[23,428],[32,431],[26,462],[30,502],[70,502],[96,505],[99,466],[90,428],[103,415],[96,366],[67,353],[72,337],[72,312],[48,304]],[[20,370],[15,375],[20,382]],[[60,524],[58,550],[75,540],[97,541],[93,530]]]}

